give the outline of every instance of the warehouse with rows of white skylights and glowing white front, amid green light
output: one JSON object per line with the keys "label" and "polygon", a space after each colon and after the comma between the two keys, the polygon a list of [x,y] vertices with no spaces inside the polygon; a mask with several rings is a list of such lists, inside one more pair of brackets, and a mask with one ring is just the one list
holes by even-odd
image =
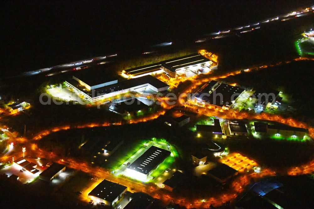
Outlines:
{"label": "warehouse with rows of white skylights and glowing white front, amid green light", "polygon": [[127,174],[136,179],[146,180],[170,154],[171,152],[168,150],[151,146],[127,167]]}

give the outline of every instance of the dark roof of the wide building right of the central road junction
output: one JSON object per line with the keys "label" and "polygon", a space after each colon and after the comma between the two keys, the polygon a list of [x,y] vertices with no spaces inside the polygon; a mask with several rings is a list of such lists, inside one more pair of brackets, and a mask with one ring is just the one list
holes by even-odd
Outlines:
{"label": "dark roof of the wide building right of the central road junction", "polygon": [[[201,99],[209,104],[223,107],[224,105],[231,105],[232,101],[238,97],[238,95],[235,95],[234,98],[232,98],[233,94],[241,94],[244,91],[243,88],[230,86],[225,83],[220,83],[217,86],[215,85],[216,83],[217,81],[213,83],[210,82],[208,86],[206,86],[196,97],[197,98],[202,97]],[[212,90],[214,91],[211,92],[209,96],[208,95],[201,96],[201,94],[204,94],[204,93],[209,94],[209,92]],[[214,98],[214,95],[215,95],[215,98]]]}

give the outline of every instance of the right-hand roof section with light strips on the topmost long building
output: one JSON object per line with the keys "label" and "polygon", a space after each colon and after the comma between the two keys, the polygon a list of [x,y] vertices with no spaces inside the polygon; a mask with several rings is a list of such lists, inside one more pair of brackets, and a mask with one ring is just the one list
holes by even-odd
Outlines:
{"label": "right-hand roof section with light strips on the topmost long building", "polygon": [[181,57],[177,57],[174,59],[170,59],[170,60],[166,60],[163,62],[160,62],[161,65],[169,70],[171,70],[172,72],[175,72],[176,69],[181,68],[181,67],[187,67],[190,65],[196,65],[199,63],[203,63],[203,62],[209,62],[210,60],[207,59],[206,57],[195,53],[195,54],[190,54],[190,55],[186,55],[186,56],[181,56]]}

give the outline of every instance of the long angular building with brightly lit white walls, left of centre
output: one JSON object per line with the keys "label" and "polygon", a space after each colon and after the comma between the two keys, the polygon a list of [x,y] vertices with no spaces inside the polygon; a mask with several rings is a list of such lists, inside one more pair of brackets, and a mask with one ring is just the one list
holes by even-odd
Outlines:
{"label": "long angular building with brightly lit white walls, left of centre", "polygon": [[127,92],[142,91],[146,88],[154,92],[166,91],[169,88],[167,84],[150,75],[121,82],[106,79],[102,83],[92,84],[73,76],[72,79],[65,81],[65,85],[89,102],[108,99]]}

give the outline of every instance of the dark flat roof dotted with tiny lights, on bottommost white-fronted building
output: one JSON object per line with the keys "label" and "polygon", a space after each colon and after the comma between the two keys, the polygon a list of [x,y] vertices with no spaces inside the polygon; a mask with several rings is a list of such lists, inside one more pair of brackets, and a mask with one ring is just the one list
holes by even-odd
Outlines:
{"label": "dark flat roof dotted with tiny lights, on bottommost white-fronted building", "polygon": [[103,180],[88,195],[113,202],[126,188],[126,186]]}

